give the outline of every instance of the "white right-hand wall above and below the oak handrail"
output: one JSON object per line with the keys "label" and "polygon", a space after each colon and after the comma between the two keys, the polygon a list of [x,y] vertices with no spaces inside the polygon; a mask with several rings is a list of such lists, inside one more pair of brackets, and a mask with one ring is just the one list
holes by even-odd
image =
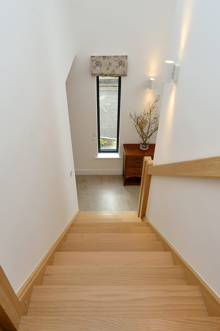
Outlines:
{"label": "white right-hand wall above and below the oak handrail", "polygon": [[[177,0],[154,164],[220,154],[217,0]],[[220,296],[220,179],[152,176],[146,216]]]}

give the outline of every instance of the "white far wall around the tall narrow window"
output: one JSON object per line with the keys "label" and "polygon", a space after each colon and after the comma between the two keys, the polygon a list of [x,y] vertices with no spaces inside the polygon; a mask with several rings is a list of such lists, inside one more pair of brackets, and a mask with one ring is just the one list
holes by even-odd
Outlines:
{"label": "white far wall around the tall narrow window", "polygon": [[[143,112],[148,101],[154,101],[158,94],[162,97],[161,75],[168,56],[175,4],[176,0],[74,0],[76,56],[66,88],[76,169],[96,174],[97,170],[122,173],[122,159],[94,159],[96,101],[90,56],[128,55],[128,76],[122,77],[123,156],[123,144],[140,141],[129,113]],[[150,77],[156,79],[154,90],[148,89]],[[155,139],[151,141],[154,142]]]}

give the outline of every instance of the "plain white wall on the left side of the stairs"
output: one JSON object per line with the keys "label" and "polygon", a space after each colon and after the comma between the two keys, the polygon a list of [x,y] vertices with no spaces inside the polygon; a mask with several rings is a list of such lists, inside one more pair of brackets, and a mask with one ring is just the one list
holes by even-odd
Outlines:
{"label": "plain white wall on the left side of the stairs", "polygon": [[15,291],[78,209],[65,80],[68,0],[1,2],[0,264]]}

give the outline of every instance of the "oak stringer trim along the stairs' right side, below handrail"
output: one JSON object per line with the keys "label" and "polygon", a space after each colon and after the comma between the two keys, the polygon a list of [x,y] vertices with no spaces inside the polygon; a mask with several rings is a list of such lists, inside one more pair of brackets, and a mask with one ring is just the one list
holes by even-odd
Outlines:
{"label": "oak stringer trim along the stairs' right side, below handrail", "polygon": [[143,217],[143,220],[151,227],[152,233],[156,233],[157,239],[163,242],[165,252],[172,253],[174,265],[183,266],[187,284],[200,286],[208,316],[220,317],[220,298],[145,216]]}

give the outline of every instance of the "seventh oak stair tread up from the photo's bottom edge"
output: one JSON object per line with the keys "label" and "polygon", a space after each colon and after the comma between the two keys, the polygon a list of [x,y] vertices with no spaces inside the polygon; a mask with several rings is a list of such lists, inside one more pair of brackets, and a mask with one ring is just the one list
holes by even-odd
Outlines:
{"label": "seventh oak stair tread up from the photo's bottom edge", "polygon": [[148,226],[127,226],[127,227],[71,227],[70,233],[151,233]]}

